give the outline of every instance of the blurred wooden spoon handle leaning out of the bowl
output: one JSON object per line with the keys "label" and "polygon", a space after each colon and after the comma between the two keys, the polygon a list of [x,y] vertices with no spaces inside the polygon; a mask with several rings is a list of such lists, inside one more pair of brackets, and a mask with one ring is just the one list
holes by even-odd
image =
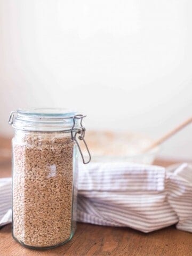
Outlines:
{"label": "blurred wooden spoon handle leaning out of the bowl", "polygon": [[183,129],[185,126],[187,126],[188,124],[190,124],[192,122],[192,116],[190,118],[188,118],[185,122],[181,123],[180,125],[178,125],[177,127],[175,127],[173,130],[171,130],[170,132],[167,132],[165,135],[163,135],[161,138],[155,140],[149,147],[147,147],[146,149],[143,150],[144,152],[149,151],[150,149],[160,145],[161,143],[163,143],[165,140],[169,139],[171,136],[173,136],[175,133],[177,133],[178,131],[180,131],[181,129]]}

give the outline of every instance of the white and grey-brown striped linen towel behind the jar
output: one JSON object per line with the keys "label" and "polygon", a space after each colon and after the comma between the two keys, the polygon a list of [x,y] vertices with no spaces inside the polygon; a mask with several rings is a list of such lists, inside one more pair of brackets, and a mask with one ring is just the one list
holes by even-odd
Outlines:
{"label": "white and grey-brown striped linen towel behind the jar", "polygon": [[[4,225],[11,222],[11,179],[0,179],[0,184],[0,195],[4,195],[0,225]],[[192,232],[192,166],[81,165],[77,220],[145,233],[177,223],[178,229]]]}

